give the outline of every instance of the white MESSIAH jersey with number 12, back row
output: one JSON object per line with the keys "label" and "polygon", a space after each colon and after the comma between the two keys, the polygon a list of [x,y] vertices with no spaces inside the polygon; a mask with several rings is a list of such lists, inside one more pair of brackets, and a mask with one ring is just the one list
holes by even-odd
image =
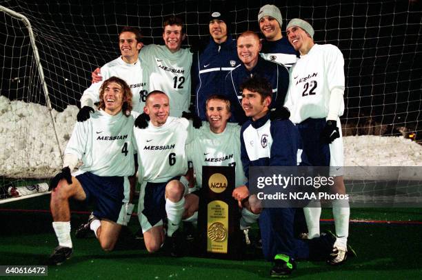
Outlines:
{"label": "white MESSIAH jersey with number 12, back row", "polygon": [[165,92],[170,101],[170,116],[181,117],[190,104],[192,53],[183,48],[172,53],[166,46],[151,44],[141,49],[139,59],[149,68],[148,92]]}

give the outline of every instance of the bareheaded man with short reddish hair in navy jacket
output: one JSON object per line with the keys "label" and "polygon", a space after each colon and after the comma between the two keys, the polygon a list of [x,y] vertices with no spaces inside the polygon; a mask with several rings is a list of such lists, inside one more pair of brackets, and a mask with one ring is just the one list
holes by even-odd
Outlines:
{"label": "bareheaded man with short reddish hair in navy jacket", "polygon": [[240,84],[252,76],[265,77],[272,86],[272,103],[270,108],[282,108],[289,85],[288,70],[277,63],[267,61],[259,56],[261,42],[255,32],[246,31],[237,38],[237,54],[242,61],[239,66],[228,72],[225,77],[225,94],[232,103],[230,121],[243,123],[247,118],[241,108]]}

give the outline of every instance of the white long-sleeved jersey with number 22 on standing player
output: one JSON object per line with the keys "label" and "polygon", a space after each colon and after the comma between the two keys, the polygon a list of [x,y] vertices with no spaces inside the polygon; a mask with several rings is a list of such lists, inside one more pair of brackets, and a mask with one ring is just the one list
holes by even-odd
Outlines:
{"label": "white long-sleeved jersey with number 22 on standing player", "polygon": [[[315,44],[290,68],[290,84],[285,107],[290,120],[321,119],[328,115],[331,90],[344,90],[344,59],[336,46]],[[339,117],[344,112],[341,104]]]}

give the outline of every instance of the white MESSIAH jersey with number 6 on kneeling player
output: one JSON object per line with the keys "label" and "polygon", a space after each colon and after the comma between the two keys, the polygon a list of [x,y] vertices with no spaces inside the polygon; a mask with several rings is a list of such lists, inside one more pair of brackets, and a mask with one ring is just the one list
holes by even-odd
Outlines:
{"label": "white MESSIAH jersey with number 6 on kneeling player", "polygon": [[149,123],[148,128],[134,127],[133,130],[138,150],[139,183],[162,183],[188,171],[185,144],[192,138],[190,121],[168,117],[163,126]]}

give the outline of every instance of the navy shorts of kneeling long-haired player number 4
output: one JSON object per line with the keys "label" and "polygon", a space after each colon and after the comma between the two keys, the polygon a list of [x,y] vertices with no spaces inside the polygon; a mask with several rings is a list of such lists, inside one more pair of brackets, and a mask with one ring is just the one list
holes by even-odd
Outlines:
{"label": "navy shorts of kneeling long-haired player number 4", "polygon": [[86,201],[95,204],[94,216],[117,221],[124,197],[124,177],[101,177],[85,172],[76,178],[86,193]]}

